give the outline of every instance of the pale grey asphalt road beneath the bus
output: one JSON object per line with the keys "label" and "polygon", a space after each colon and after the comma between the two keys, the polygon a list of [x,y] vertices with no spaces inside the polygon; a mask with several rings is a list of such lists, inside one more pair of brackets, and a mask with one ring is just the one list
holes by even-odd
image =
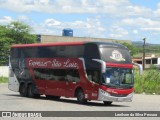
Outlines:
{"label": "pale grey asphalt road beneath the bus", "polygon": [[[85,105],[77,103],[73,98],[61,98],[58,101],[46,99],[41,96],[39,99],[21,97],[18,92],[8,90],[7,84],[0,84],[0,111],[160,111],[160,95],[142,95],[135,94],[132,102],[114,102],[111,106],[104,106],[103,102],[90,101]],[[0,118],[6,119],[6,118]],[[18,118],[20,119],[20,118]],[[32,118],[30,118],[32,119]],[[39,118],[33,118],[39,120]],[[47,118],[52,119],[52,118]],[[59,118],[56,119],[75,119],[75,118]],[[84,119],[76,118],[76,119]],[[104,118],[87,118],[87,120]],[[119,120],[120,118],[112,118]],[[129,118],[122,118],[128,120]],[[130,118],[134,119],[134,118]],[[137,118],[139,120],[148,119],[155,120],[159,118]]]}

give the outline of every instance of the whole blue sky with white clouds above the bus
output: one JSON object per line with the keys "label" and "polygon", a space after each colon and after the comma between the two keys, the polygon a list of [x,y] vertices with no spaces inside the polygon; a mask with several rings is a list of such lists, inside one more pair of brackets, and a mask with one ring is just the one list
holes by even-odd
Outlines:
{"label": "whole blue sky with white clouds above the bus", "polygon": [[160,0],[0,0],[0,25],[24,22],[32,33],[160,44]]}

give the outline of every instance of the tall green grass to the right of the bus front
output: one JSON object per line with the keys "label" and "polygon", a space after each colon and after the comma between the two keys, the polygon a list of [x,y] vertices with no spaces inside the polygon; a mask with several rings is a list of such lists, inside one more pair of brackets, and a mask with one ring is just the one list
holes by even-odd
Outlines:
{"label": "tall green grass to the right of the bus front", "polygon": [[135,93],[159,94],[160,95],[160,70],[145,70],[143,75],[135,71]]}

